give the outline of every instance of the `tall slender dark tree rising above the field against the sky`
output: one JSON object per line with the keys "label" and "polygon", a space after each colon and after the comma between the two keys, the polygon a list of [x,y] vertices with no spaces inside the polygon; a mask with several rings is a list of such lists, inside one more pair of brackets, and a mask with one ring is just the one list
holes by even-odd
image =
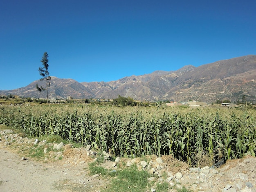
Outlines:
{"label": "tall slender dark tree rising above the field against the sky", "polygon": [[38,84],[36,84],[36,89],[41,92],[41,91],[45,91],[46,89],[46,96],[47,96],[47,103],[48,103],[48,87],[50,87],[50,80],[51,80],[51,76],[49,76],[49,71],[48,71],[48,54],[47,52],[44,53],[42,60],[41,60],[43,67],[39,67],[38,71],[40,76],[42,76],[43,78],[40,78],[40,81],[46,80],[46,88],[38,87]]}

